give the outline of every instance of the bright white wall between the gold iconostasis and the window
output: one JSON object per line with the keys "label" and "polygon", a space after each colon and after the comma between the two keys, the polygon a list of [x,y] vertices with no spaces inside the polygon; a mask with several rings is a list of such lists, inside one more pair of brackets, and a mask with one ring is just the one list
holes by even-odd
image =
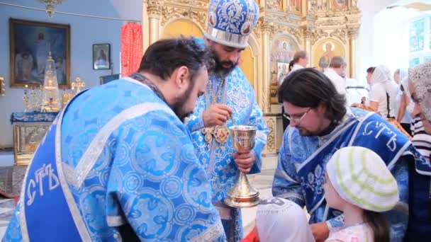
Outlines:
{"label": "bright white wall between the gold iconostasis and the window", "polygon": [[429,4],[426,0],[358,1],[362,23],[357,39],[357,79],[365,81],[366,69],[378,64],[386,64],[393,71],[410,66],[409,22],[426,12],[386,7],[412,3]]}

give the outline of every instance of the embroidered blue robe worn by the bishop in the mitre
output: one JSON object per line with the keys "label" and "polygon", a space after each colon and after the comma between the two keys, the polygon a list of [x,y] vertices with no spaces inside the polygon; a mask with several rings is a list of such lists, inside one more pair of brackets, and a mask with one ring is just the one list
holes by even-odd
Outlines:
{"label": "embroidered blue robe worn by the bishop in the mitre", "polygon": [[[203,47],[203,40],[196,39]],[[220,212],[220,217],[225,227],[228,241],[239,241],[242,238],[242,223],[240,209],[231,209],[223,204],[227,192],[237,181],[239,170],[232,154],[236,153],[230,139],[224,144],[219,144],[212,139],[207,144],[204,134],[201,132],[203,126],[203,111],[211,107],[213,96],[216,103],[228,105],[233,110],[233,119],[237,125],[252,125],[257,127],[254,153],[257,156],[250,173],[259,173],[262,168],[262,149],[267,143],[269,129],[263,120],[262,110],[257,105],[254,89],[239,67],[236,67],[224,81],[215,75],[209,76],[206,93],[196,102],[195,113],[186,122],[192,132],[193,143],[199,161],[206,167],[211,180],[211,191],[213,204]],[[209,88],[212,88],[212,91]],[[211,96],[211,93],[213,96]],[[228,120],[227,126],[233,126]]]}

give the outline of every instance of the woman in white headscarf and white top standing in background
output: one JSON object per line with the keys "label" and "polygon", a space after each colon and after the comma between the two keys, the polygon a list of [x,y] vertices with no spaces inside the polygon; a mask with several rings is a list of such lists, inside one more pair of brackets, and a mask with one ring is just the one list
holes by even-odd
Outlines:
{"label": "woman in white headscarf and white top standing in background", "polygon": [[371,76],[371,91],[369,93],[369,106],[382,117],[394,118],[395,100],[398,86],[391,78],[391,70],[385,66],[378,66]]}

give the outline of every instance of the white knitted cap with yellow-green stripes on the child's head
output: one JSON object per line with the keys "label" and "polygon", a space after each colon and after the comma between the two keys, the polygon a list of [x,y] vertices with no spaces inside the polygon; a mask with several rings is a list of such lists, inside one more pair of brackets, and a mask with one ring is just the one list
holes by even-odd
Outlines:
{"label": "white knitted cap with yellow-green stripes on the child's head", "polygon": [[342,148],[328,161],[326,171],[340,197],[362,209],[384,212],[399,200],[395,178],[371,149]]}

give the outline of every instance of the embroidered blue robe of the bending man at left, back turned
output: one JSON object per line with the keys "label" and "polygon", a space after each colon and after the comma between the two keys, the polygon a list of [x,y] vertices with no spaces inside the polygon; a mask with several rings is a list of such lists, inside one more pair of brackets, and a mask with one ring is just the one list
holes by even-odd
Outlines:
{"label": "embroidered blue robe of the bending man at left, back turned", "polygon": [[30,163],[4,241],[225,241],[191,134],[148,86],[91,88]]}

